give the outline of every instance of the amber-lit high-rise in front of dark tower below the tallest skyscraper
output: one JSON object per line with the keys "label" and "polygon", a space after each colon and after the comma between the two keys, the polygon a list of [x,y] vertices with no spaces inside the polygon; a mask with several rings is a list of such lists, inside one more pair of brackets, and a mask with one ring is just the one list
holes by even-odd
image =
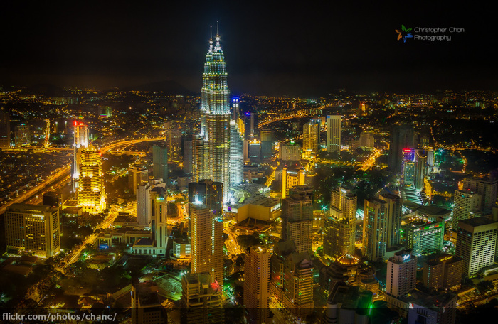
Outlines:
{"label": "amber-lit high-rise in front of dark tower below the tallest skyscraper", "polygon": [[208,272],[223,287],[223,220],[202,202],[194,202],[189,209],[191,272]]}

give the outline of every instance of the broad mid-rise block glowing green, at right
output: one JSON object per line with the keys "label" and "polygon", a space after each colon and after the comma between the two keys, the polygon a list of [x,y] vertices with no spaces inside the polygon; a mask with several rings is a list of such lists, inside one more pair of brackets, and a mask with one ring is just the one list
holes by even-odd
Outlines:
{"label": "broad mid-rise block glowing green, at right", "polygon": [[406,227],[406,247],[415,255],[423,252],[443,249],[445,236],[445,220],[438,218],[435,222],[411,223]]}

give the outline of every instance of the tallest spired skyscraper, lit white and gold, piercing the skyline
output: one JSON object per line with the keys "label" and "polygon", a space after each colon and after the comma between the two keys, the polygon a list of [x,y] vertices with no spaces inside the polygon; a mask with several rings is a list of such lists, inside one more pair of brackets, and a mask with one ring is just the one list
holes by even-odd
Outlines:
{"label": "tallest spired skyscraper, lit white and gold, piercing the skyline", "polygon": [[228,202],[230,189],[230,102],[228,74],[221,50],[220,36],[216,43],[209,40],[204,63],[201,89],[201,136],[206,146],[204,174],[206,178],[223,183],[223,202]]}

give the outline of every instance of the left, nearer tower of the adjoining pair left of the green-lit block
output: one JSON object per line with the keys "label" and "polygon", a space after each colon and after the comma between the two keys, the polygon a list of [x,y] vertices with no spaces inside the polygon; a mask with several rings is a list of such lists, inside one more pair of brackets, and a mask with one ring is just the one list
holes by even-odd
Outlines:
{"label": "left, nearer tower of the adjoining pair left of the green-lit block", "polygon": [[363,219],[363,253],[367,259],[376,261],[386,254],[387,206],[378,198],[365,200]]}

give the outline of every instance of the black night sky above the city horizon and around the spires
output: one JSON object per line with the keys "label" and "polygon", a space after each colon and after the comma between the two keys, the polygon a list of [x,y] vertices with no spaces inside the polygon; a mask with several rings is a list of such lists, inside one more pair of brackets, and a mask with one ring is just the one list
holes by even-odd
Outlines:
{"label": "black night sky above the city horizon and around the spires", "polygon": [[[199,92],[209,26],[219,20],[234,93],[498,90],[491,2],[102,2],[2,4],[0,85],[174,80]],[[401,24],[465,32],[403,43]]]}

